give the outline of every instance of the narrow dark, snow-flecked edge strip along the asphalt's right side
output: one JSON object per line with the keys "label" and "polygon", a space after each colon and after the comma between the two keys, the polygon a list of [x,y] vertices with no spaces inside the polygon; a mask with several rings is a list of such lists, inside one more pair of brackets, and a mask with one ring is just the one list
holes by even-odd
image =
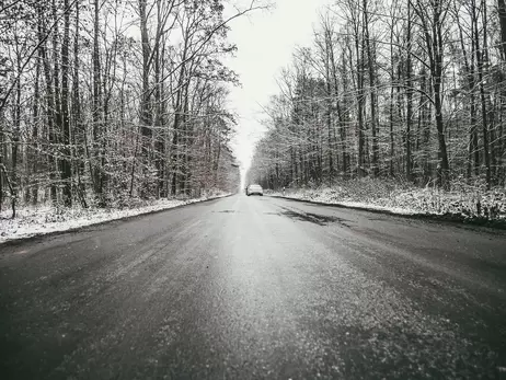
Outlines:
{"label": "narrow dark, snow-flecked edge strip along the asphalt's right side", "polygon": [[412,211],[412,210],[407,210],[403,208],[389,208],[389,207],[377,206],[377,205],[358,206],[354,201],[324,203],[324,201],[295,198],[295,197],[283,196],[283,195],[267,195],[267,196],[273,197],[273,198],[281,198],[281,199],[308,203],[308,204],[320,205],[320,206],[330,206],[330,207],[354,209],[354,210],[359,210],[359,211],[383,214],[383,215],[390,215],[390,216],[400,217],[400,218],[427,220],[427,221],[439,221],[439,222],[448,222],[452,224],[456,223],[456,224],[465,224],[465,226],[478,226],[478,227],[487,227],[487,228],[493,228],[493,229],[506,230],[506,220],[503,220],[503,219],[502,220],[488,220],[486,218],[465,218],[464,216],[457,215],[457,214],[418,212],[418,211]]}

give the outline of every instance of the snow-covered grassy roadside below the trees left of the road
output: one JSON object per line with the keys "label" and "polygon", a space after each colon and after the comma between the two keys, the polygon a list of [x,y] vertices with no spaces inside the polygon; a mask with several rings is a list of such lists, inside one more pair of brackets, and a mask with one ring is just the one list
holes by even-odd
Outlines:
{"label": "snow-covered grassy roadside below the trees left of the road", "polygon": [[128,209],[114,208],[60,208],[50,206],[20,208],[15,219],[11,219],[11,211],[0,212],[0,244],[10,240],[25,239],[51,232],[62,232],[92,226],[106,221],[134,217],[142,214],[161,211],[177,206],[195,204],[230,194],[215,194],[200,198],[177,200],[159,199],[149,205]]}

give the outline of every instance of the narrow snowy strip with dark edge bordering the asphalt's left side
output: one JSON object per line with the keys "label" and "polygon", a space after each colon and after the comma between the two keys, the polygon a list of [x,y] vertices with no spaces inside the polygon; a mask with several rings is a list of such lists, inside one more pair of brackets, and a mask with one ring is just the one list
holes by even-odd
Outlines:
{"label": "narrow snowy strip with dark edge bordering the asphalt's left side", "polygon": [[[49,227],[47,229],[47,231],[25,232],[25,233],[20,233],[18,235],[5,235],[5,237],[0,235],[0,247],[1,246],[7,246],[7,245],[16,245],[16,244],[25,243],[25,242],[31,241],[31,240],[37,240],[37,239],[41,239],[41,238],[46,238],[46,237],[56,235],[56,234],[79,232],[79,231],[81,231],[81,230],[83,230],[83,229],[85,229],[88,227],[97,227],[97,226],[102,226],[102,224],[107,224],[107,223],[113,222],[113,221],[124,221],[124,220],[135,219],[135,218],[138,218],[138,217],[145,217],[145,216],[148,216],[148,215],[164,212],[164,211],[168,211],[168,210],[173,210],[173,209],[189,206],[189,205],[203,204],[203,203],[210,201],[210,200],[226,198],[226,197],[229,197],[232,194],[225,194],[225,195],[212,196],[212,197],[209,197],[209,198],[197,198],[197,199],[180,200],[181,204],[168,205],[166,207],[161,207],[161,208],[157,208],[157,209],[153,209],[153,207],[156,207],[156,205],[147,206],[147,207],[145,207],[145,209],[142,209],[142,208],[125,209],[124,211],[126,211],[126,212],[130,211],[131,214],[127,214],[127,215],[116,214],[116,215],[112,215],[110,219],[97,220],[97,221],[96,220],[95,221],[94,220],[82,220],[83,223],[80,224],[80,226],[77,226],[77,227],[70,227],[70,228],[62,227],[62,228],[59,228],[59,227],[53,226],[55,228],[51,229]],[[174,200],[177,200],[177,199],[174,199]],[[117,211],[119,211],[119,210],[117,210]],[[0,223],[1,223],[1,220],[0,220]],[[50,224],[50,223],[48,223],[48,224]]]}

